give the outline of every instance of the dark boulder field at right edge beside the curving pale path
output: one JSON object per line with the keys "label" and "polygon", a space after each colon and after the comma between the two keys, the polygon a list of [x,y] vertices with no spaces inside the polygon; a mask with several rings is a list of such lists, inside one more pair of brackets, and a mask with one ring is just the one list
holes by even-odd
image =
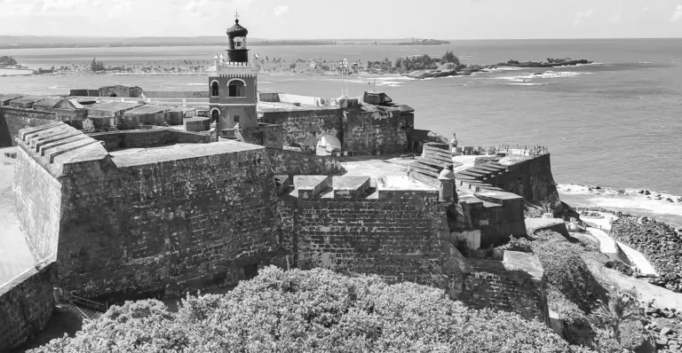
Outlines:
{"label": "dark boulder field at right edge beside the curving pale path", "polygon": [[617,212],[616,216],[618,220],[612,225],[611,235],[646,255],[660,276],[650,278],[649,282],[682,292],[682,233],[670,224],[650,217],[621,212]]}

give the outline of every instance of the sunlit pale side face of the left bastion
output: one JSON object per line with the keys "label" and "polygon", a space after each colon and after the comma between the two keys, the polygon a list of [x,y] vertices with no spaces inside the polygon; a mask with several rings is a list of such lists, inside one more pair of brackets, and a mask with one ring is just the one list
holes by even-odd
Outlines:
{"label": "sunlit pale side face of the left bastion", "polygon": [[54,258],[59,240],[62,189],[59,180],[17,148],[12,189],[21,231],[36,261]]}

